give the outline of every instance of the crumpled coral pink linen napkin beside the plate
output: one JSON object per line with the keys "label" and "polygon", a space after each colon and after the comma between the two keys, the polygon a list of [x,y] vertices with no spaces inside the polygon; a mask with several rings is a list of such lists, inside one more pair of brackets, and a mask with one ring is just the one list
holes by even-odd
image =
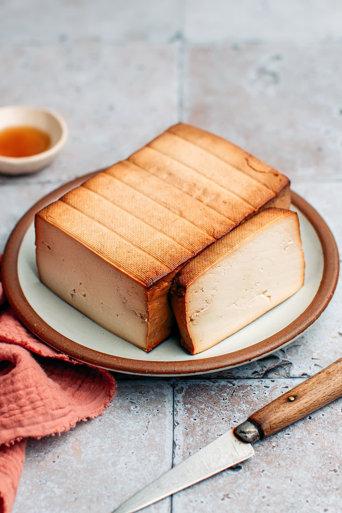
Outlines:
{"label": "crumpled coral pink linen napkin beside the plate", "polygon": [[108,371],[76,362],[37,339],[5,301],[0,280],[0,513],[12,509],[26,438],[60,435],[97,417],[116,388]]}

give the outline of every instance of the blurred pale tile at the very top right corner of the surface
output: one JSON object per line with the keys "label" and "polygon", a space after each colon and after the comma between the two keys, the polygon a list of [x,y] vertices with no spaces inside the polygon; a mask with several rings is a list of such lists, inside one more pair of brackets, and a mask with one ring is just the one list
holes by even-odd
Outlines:
{"label": "blurred pale tile at the very top right corner of the surface", "polygon": [[338,0],[185,0],[185,37],[199,44],[332,40],[342,36],[341,16]]}

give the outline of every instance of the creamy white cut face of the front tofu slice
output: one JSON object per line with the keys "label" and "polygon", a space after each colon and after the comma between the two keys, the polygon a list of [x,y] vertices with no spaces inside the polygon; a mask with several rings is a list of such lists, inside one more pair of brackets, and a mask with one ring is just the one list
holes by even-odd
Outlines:
{"label": "creamy white cut face of the front tofu slice", "polygon": [[304,280],[294,215],[259,232],[215,263],[186,290],[186,325],[194,353],[229,337],[288,299]]}

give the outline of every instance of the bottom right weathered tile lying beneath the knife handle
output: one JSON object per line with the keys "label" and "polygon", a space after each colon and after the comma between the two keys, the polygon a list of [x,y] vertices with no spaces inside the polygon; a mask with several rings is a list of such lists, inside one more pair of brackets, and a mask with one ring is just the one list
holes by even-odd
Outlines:
{"label": "bottom right weathered tile lying beneath the knife handle", "polygon": [[[179,382],[177,464],[300,380]],[[342,399],[255,444],[255,456],[172,498],[172,511],[342,511]],[[327,437],[329,432],[329,437]]]}

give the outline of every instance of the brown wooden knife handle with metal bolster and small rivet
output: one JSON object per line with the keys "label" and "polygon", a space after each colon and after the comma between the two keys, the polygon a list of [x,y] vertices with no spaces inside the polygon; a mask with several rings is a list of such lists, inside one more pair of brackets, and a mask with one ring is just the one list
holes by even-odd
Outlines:
{"label": "brown wooden knife handle with metal bolster and small rivet", "polygon": [[266,438],[341,396],[342,358],[253,413],[234,429],[235,435],[245,442]]}

